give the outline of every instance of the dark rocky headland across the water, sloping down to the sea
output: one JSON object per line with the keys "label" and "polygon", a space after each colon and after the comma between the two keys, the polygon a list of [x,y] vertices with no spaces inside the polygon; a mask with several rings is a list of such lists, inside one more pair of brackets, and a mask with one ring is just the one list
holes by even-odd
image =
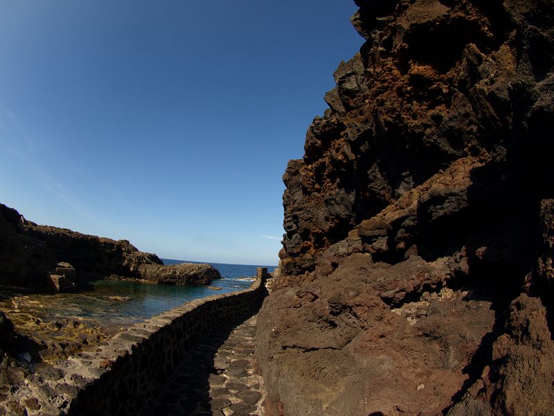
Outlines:
{"label": "dark rocky headland across the water, sloping down to the sea", "polygon": [[166,284],[209,284],[220,273],[209,265],[163,266],[156,254],[127,240],[37,225],[0,204],[0,283],[42,290],[57,262],[71,263],[82,279],[131,277]]}

